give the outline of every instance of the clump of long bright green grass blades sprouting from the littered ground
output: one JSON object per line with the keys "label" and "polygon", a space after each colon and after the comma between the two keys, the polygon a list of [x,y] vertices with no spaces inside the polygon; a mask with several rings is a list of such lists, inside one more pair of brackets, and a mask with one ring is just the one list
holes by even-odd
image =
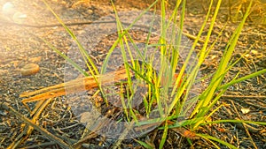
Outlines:
{"label": "clump of long bright green grass blades sprouting from the littered ground", "polygon": [[[212,43],[209,46],[209,41],[211,34],[213,32],[213,28],[215,26],[215,20],[219,13],[220,5],[222,3],[222,0],[218,0],[218,2],[215,5],[215,11],[212,17],[210,18],[210,13],[213,6],[213,0],[211,0],[209,9],[207,11],[207,16],[204,21],[204,23],[201,26],[200,32],[197,35],[196,40],[192,43],[192,47],[188,49],[188,55],[184,59],[184,63],[179,71],[179,75],[176,77],[175,82],[172,82],[172,78],[175,78],[175,72],[177,65],[181,62],[181,58],[179,57],[179,53],[181,50],[182,45],[182,31],[184,28],[184,12],[185,12],[185,3],[186,1],[177,0],[176,1],[176,7],[172,11],[169,19],[167,20],[166,15],[166,5],[167,2],[165,0],[160,1],[160,40],[158,43],[149,45],[149,37],[151,34],[148,34],[147,39],[145,41],[145,49],[149,46],[153,46],[154,48],[159,48],[160,50],[160,70],[154,71],[153,70],[153,58],[149,59],[149,56],[147,53],[143,55],[142,51],[137,48],[136,43],[132,40],[132,37],[129,34],[129,30],[132,26],[134,26],[138,19],[141,19],[142,15],[144,15],[146,12],[151,11],[151,8],[154,9],[154,15],[156,13],[156,7],[155,5],[159,3],[159,1],[155,1],[153,4],[150,5],[143,13],[141,13],[137,19],[133,22],[131,22],[131,25],[124,28],[122,26],[121,20],[118,16],[118,11],[115,10],[115,6],[113,5],[113,10],[115,12],[116,16],[116,23],[117,23],[117,30],[118,30],[118,38],[113,43],[113,46],[109,49],[106,60],[102,65],[102,70],[99,72],[95,66],[95,63],[93,63],[90,59],[90,56],[86,52],[84,48],[82,48],[81,43],[76,39],[76,36],[74,33],[64,25],[64,22],[59,19],[57,14],[51,10],[51,7],[43,1],[47,7],[50,9],[50,11],[54,14],[54,16],[59,20],[60,24],[65,27],[66,32],[71,35],[71,37],[74,39],[74,41],[77,43],[80,53],[83,57],[84,62],[86,62],[87,67],[90,70],[90,73],[86,73],[85,71],[82,71],[80,66],[75,64],[71,59],[69,59],[64,54],[60,53],[60,51],[56,48],[54,48],[49,42],[46,42],[49,44],[51,48],[53,48],[57,53],[59,53],[60,56],[64,57],[66,61],[72,63],[74,67],[77,69],[77,71],[81,71],[84,76],[92,75],[96,76],[98,74],[104,74],[106,73],[106,67],[108,60],[110,56],[113,53],[113,50],[116,47],[120,47],[121,49],[121,56],[123,58],[124,67],[127,70],[128,74],[128,80],[127,84],[128,87],[125,91],[126,95],[121,95],[121,102],[122,107],[124,110],[125,115],[125,121],[132,122],[134,121],[137,123],[138,126],[145,125],[145,124],[151,124],[151,123],[162,123],[160,126],[160,130],[163,130],[163,135],[160,141],[159,148],[163,148],[167,136],[168,136],[168,130],[169,129],[175,129],[179,127],[186,127],[189,128],[189,131],[191,131],[193,134],[200,138],[204,138],[211,142],[216,148],[219,148],[219,144],[226,145],[230,148],[236,148],[234,145],[231,145],[227,142],[224,142],[223,140],[219,138],[214,138],[211,136],[208,136],[207,134],[200,134],[197,133],[197,130],[199,130],[199,127],[202,125],[207,125],[210,123],[258,123],[265,125],[266,123],[262,122],[252,122],[252,121],[244,121],[244,120],[219,120],[219,121],[213,121],[213,122],[207,122],[207,119],[212,116],[215,111],[217,111],[219,108],[221,108],[223,105],[219,105],[218,108],[214,109],[215,104],[217,101],[220,100],[223,93],[226,92],[226,90],[241,81],[244,81],[249,78],[254,78],[256,76],[262,75],[263,73],[266,73],[266,69],[254,72],[250,75],[247,75],[245,77],[239,78],[238,75],[235,76],[230,82],[224,82],[224,76],[226,73],[233,67],[234,64],[238,63],[239,60],[232,62],[231,56],[234,52],[234,49],[237,45],[237,41],[239,39],[239,34],[241,33],[241,30],[243,29],[246,19],[248,15],[250,14],[250,10],[252,8],[253,1],[250,1],[248,4],[248,7],[246,8],[246,13],[243,16],[243,19],[239,23],[238,28],[236,31],[231,35],[230,41],[227,43],[227,46],[223,49],[223,57],[219,62],[217,70],[215,70],[215,73],[211,76],[211,81],[207,88],[202,92],[199,93],[197,96],[194,96],[192,99],[189,96],[189,93],[192,92],[192,87],[199,83],[199,80],[203,78],[198,78],[200,74],[200,66],[205,61],[206,57],[210,53],[210,51],[213,49],[215,42]],[[178,11],[178,9],[182,6],[182,10]],[[177,20],[177,16],[179,16],[179,21]],[[200,41],[201,34],[203,33],[203,29],[207,26],[207,20],[211,19],[208,27],[207,36],[205,38],[205,43],[203,44],[203,47],[200,49],[199,52],[195,51],[195,47]],[[174,23],[176,26],[171,26],[171,23]],[[152,30],[152,28],[151,28]],[[176,30],[178,30],[179,34],[176,35]],[[168,31],[170,31],[170,36],[168,36]],[[222,32],[220,33],[222,34]],[[216,41],[219,37],[217,37]],[[134,48],[130,48],[129,44],[133,44]],[[185,47],[187,48],[187,47]],[[133,56],[132,51],[137,50],[137,60],[141,60],[144,63],[137,63],[136,57]],[[197,53],[197,58],[192,59],[192,55]],[[148,60],[147,60],[148,59]],[[135,63],[129,63],[135,62]],[[189,66],[189,64],[192,63],[192,67]],[[153,119],[149,119],[149,121],[141,122],[137,118],[137,111],[132,107],[132,101],[134,98],[134,93],[136,93],[137,88],[134,85],[134,80],[132,80],[132,73],[134,72],[135,77],[137,80],[141,80],[137,82],[137,86],[141,85],[145,82],[145,85],[147,86],[147,94],[143,98],[144,107],[145,107],[145,116],[147,118],[153,111],[156,111],[159,113],[160,117],[156,117]],[[168,76],[170,79],[168,79],[166,85],[168,86],[161,86],[162,80],[165,78],[165,76]],[[98,86],[101,90],[102,96],[106,99],[106,104],[108,104],[108,95],[106,95],[105,91],[103,90],[103,87],[100,84],[100,80],[98,81]],[[135,84],[136,85],[136,84]],[[168,98],[165,98],[168,97]],[[126,98],[128,100],[126,100]],[[170,99],[170,100],[169,100]],[[183,121],[177,121],[178,117],[184,115],[184,111],[188,110],[188,108],[185,108],[185,103],[192,100],[193,102],[197,102],[195,108],[193,108],[193,111],[191,115],[189,115],[186,119]],[[154,107],[154,103],[156,104],[156,107]],[[129,110],[128,110],[129,109]],[[173,123],[168,123],[173,122]],[[146,144],[145,142],[142,142],[135,138],[135,140],[140,144],[145,146],[145,148],[153,148],[151,145]],[[190,142],[192,140],[188,138]],[[218,143],[218,144],[217,144]]]}

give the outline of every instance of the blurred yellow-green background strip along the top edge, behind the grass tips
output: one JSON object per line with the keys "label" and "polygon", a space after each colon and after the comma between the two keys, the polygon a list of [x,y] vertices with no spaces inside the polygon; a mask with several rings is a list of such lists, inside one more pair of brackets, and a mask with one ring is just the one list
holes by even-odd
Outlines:
{"label": "blurred yellow-green background strip along the top edge, behind the grass tips", "polygon": [[[110,3],[110,0],[91,0],[97,2]],[[214,0],[212,10],[215,10],[215,5],[218,0]],[[80,1],[76,1],[80,2]],[[124,7],[135,7],[137,9],[145,9],[150,4],[153,4],[154,0],[114,0],[114,4],[120,4]],[[250,0],[223,0],[220,9],[220,19],[239,21],[245,14],[246,7]],[[266,0],[254,0],[252,12],[248,18],[248,21],[252,21],[258,24],[266,23]],[[188,0],[186,1],[187,12],[191,14],[206,14],[210,0]],[[167,7],[173,9],[176,5],[176,0],[168,0]],[[158,4],[157,7],[160,7]]]}

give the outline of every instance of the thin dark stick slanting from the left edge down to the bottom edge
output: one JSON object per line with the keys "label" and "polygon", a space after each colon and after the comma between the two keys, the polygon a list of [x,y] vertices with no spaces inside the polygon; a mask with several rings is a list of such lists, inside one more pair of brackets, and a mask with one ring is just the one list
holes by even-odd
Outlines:
{"label": "thin dark stick slanting from the left edge down to the bottom edge", "polygon": [[38,130],[43,134],[43,136],[49,138],[51,141],[56,142],[58,145],[60,145],[62,148],[71,148],[73,147],[71,145],[67,145],[63,140],[60,138],[57,138],[56,136],[53,136],[49,131],[43,129],[42,127],[36,125],[31,120],[29,120],[24,115],[21,115],[18,111],[16,111],[14,108],[10,107],[8,103],[6,102],[0,102],[0,108],[4,108],[5,110],[11,112],[13,115],[16,115],[18,118],[20,118],[24,123],[27,123],[28,125],[32,126],[35,130]]}

